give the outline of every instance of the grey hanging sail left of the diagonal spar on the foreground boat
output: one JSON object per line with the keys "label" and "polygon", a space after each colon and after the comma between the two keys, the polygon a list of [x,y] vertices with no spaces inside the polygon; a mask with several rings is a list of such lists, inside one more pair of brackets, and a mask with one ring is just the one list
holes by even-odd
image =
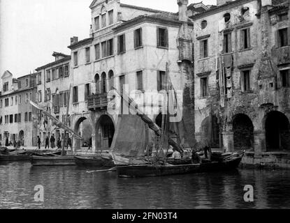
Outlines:
{"label": "grey hanging sail left of the diagonal spar on the foreground boat", "polygon": [[135,115],[119,115],[111,146],[113,153],[125,157],[144,157],[146,146],[145,123]]}

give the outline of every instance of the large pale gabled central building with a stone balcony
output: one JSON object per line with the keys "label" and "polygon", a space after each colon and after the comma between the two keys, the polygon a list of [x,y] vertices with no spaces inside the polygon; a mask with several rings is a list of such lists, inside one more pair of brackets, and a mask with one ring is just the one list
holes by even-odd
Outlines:
{"label": "large pale gabled central building with a stone balcony", "polygon": [[[179,4],[180,16],[116,0],[93,1],[90,37],[71,38],[71,123],[75,132],[80,132],[80,124],[88,120],[87,133],[92,134],[94,151],[108,150],[115,134],[117,115],[107,111],[107,93],[112,86],[119,91],[125,87],[128,93],[161,91],[167,71],[174,88],[186,89],[189,102],[193,102],[189,93],[193,92],[190,33],[193,26],[186,15],[188,1]],[[161,112],[158,101],[154,105],[142,101],[139,105],[144,109],[157,108],[150,118],[158,119]],[[80,146],[80,141],[74,141],[75,149]]]}

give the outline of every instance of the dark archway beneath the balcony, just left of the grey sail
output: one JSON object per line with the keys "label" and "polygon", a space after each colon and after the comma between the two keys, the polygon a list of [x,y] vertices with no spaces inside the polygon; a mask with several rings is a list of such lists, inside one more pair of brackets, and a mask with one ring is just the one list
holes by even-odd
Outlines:
{"label": "dark archway beneath the balcony, just left of the grey sail", "polygon": [[109,150],[115,134],[115,125],[112,118],[103,115],[96,123],[96,150]]}

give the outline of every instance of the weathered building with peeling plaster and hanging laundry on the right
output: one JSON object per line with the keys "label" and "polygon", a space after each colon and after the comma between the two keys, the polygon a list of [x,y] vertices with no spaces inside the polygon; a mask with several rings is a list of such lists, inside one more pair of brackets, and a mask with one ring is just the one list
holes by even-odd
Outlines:
{"label": "weathered building with peeling plaster and hanging laundry on the right", "polygon": [[196,139],[278,162],[272,152],[290,149],[289,1],[217,1],[191,19]]}

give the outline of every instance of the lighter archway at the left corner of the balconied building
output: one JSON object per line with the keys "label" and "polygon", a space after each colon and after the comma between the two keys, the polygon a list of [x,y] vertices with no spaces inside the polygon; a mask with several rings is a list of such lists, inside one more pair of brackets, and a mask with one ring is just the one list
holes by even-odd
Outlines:
{"label": "lighter archway at the left corner of the balconied building", "polygon": [[90,139],[92,139],[92,128],[89,120],[85,117],[78,119],[78,121],[75,123],[74,130],[75,132],[80,134],[83,139],[73,139],[73,148],[75,150],[80,150],[81,148],[89,148]]}

